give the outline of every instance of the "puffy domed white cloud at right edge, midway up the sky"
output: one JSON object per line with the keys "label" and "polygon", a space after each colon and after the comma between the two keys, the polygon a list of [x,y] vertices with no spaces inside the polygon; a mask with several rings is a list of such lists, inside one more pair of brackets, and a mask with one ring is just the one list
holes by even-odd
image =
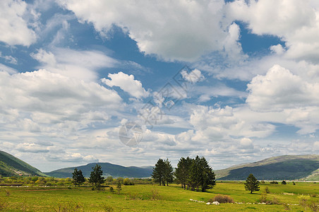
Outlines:
{"label": "puffy domed white cloud at right edge, midway up the sky", "polygon": [[319,83],[308,83],[282,66],[273,66],[265,76],[248,84],[246,102],[253,110],[280,111],[319,105]]}

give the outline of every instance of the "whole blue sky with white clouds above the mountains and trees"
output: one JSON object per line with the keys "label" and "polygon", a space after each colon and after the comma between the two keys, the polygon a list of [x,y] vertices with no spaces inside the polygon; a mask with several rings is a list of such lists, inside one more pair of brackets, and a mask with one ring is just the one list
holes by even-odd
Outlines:
{"label": "whole blue sky with white clouds above the mountains and trees", "polygon": [[0,1],[0,147],[43,172],[319,152],[317,0]]}

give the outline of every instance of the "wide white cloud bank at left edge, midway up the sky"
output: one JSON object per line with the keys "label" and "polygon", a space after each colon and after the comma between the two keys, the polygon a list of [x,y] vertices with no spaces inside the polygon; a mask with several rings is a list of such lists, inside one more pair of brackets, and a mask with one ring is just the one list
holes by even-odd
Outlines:
{"label": "wide white cloud bank at left edge, midway up the sky", "polygon": [[[121,98],[97,83],[85,83],[46,70],[0,72],[0,121],[20,124],[32,131],[52,133],[58,129],[79,129],[91,122],[108,119],[107,110],[117,110]],[[6,123],[6,124],[4,124]],[[41,126],[37,125],[40,124]],[[52,124],[47,128],[45,124]]]}

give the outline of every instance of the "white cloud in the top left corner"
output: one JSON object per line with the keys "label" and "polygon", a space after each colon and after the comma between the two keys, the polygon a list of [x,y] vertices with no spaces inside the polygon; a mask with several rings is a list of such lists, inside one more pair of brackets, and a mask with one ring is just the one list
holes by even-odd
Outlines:
{"label": "white cloud in the top left corner", "polygon": [[36,40],[35,32],[23,19],[27,4],[20,0],[0,1],[0,41],[8,45],[30,46]]}

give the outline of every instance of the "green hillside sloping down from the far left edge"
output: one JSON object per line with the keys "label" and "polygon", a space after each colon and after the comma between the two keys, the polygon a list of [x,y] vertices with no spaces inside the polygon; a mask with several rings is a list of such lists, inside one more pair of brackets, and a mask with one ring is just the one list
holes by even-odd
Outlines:
{"label": "green hillside sloping down from the far left edge", "polygon": [[0,151],[0,175],[4,177],[14,176],[14,175],[37,175],[37,176],[47,176],[44,175],[40,170],[32,167],[28,163],[6,153]]}

